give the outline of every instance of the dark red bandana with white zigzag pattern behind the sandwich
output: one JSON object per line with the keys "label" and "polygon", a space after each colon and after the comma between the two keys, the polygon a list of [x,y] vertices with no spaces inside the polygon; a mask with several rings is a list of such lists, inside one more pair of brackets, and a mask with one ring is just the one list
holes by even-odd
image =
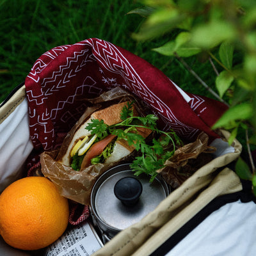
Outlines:
{"label": "dark red bandana with white zigzag pattern behind the sandwich", "polygon": [[35,148],[51,150],[57,134],[68,132],[81,116],[85,98],[121,86],[150,104],[164,127],[182,138],[200,131],[218,135],[211,125],[227,110],[216,100],[184,93],[147,61],[104,40],[90,38],[62,45],[36,60],[26,77],[30,134]]}

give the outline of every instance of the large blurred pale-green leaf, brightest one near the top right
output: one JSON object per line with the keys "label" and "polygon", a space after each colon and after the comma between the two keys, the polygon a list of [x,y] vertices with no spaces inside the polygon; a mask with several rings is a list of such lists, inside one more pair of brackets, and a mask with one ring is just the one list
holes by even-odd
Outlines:
{"label": "large blurred pale-green leaf, brightest one near the top right", "polygon": [[225,40],[232,40],[235,29],[224,20],[212,20],[192,30],[192,42],[198,47],[211,49]]}

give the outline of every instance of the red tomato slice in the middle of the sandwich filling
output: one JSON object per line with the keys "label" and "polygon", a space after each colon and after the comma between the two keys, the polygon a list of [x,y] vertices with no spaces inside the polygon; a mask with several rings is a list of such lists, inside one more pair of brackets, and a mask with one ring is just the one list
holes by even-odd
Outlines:
{"label": "red tomato slice in the middle of the sandwich filling", "polygon": [[100,140],[93,144],[84,156],[83,162],[81,164],[81,169],[90,166],[92,158],[99,156],[103,152],[104,148],[106,148],[115,137],[116,135],[110,134],[106,136],[106,138],[104,138],[103,140]]}

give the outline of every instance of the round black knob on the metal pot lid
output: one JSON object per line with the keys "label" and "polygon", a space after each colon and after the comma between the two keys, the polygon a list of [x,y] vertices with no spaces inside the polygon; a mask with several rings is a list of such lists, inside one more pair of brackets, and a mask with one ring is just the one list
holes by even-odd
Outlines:
{"label": "round black knob on the metal pot lid", "polygon": [[140,180],[134,177],[124,177],[116,182],[114,193],[123,204],[132,206],[138,202],[142,192]]}

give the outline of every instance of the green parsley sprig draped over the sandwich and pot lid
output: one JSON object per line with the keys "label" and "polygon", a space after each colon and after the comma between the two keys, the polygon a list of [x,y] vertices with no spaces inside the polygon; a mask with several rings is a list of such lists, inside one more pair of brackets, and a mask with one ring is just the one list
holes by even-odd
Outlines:
{"label": "green parsley sprig draped over the sandwich and pot lid", "polygon": [[[164,162],[173,156],[175,145],[181,145],[182,141],[174,131],[164,132],[157,128],[156,115],[134,116],[133,102],[128,102],[122,109],[120,118],[122,122],[114,125],[104,124],[103,120],[94,119],[86,126],[86,129],[93,134],[97,134],[97,138],[115,134],[117,140],[125,140],[129,145],[134,145],[138,156],[135,157],[131,164],[131,169],[134,175],[138,176],[141,173],[150,175],[150,182],[157,176],[157,170],[164,167]],[[146,143],[145,138],[138,134],[136,128],[143,127],[151,129],[156,133],[156,138],[153,138],[150,143]]]}

